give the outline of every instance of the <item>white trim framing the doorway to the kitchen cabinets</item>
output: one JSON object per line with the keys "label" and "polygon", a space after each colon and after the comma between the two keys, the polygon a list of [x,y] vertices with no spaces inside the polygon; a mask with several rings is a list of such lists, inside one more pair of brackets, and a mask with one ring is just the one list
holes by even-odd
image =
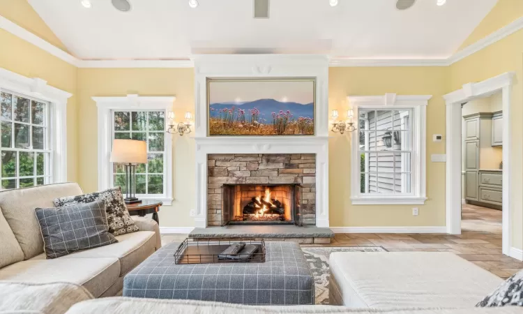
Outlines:
{"label": "white trim framing the doorway to the kitchen cabinets", "polygon": [[[461,233],[461,105],[475,98],[502,93],[503,116],[510,117],[511,91],[515,73],[507,72],[488,80],[464,84],[462,89],[446,94],[446,227],[450,234]],[[510,208],[510,185],[512,134],[510,119],[503,120],[503,254],[511,255],[512,209]],[[520,256],[513,256],[520,259]]]}

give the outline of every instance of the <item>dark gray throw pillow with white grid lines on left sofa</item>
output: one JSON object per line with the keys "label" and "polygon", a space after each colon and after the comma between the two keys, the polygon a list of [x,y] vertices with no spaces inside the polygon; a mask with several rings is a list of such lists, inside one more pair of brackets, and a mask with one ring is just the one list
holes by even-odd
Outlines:
{"label": "dark gray throw pillow with white grid lines on left sofa", "polygon": [[35,213],[47,258],[118,242],[108,232],[103,200],[61,208],[37,208]]}

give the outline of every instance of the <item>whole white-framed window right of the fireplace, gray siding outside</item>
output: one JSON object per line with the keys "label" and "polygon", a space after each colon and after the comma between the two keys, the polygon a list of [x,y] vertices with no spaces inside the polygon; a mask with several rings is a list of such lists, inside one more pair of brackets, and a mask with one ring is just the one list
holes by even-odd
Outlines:
{"label": "whole white-framed window right of the fireplace, gray siding outside", "polygon": [[349,97],[353,204],[424,204],[425,106],[430,96]]}

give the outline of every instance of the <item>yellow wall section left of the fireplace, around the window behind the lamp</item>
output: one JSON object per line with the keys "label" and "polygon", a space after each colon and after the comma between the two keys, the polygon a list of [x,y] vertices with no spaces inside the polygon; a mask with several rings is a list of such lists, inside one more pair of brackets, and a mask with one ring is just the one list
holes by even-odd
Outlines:
{"label": "yellow wall section left of the fireplace, around the window behind the lamp", "polygon": [[[194,69],[84,69],[78,70],[78,172],[86,192],[98,190],[97,109],[93,96],[176,96],[176,117],[194,114]],[[170,139],[171,137],[167,137]],[[160,212],[162,227],[193,227],[195,209],[195,142],[190,135],[173,135],[172,206]]]}

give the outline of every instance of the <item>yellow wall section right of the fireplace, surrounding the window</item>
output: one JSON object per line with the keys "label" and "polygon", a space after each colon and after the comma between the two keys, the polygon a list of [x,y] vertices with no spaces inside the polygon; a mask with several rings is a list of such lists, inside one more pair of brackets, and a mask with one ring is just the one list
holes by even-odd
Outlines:
{"label": "yellow wall section right of the fireplace, surrounding the window", "polygon": [[[329,140],[329,218],[333,227],[444,226],[445,163],[430,162],[444,154],[444,142],[432,134],[445,133],[446,68],[329,68],[329,110],[347,110],[347,96],[432,95],[427,106],[427,197],[425,205],[352,205],[350,201],[350,136],[331,133]],[[412,216],[412,208],[419,216]]]}

